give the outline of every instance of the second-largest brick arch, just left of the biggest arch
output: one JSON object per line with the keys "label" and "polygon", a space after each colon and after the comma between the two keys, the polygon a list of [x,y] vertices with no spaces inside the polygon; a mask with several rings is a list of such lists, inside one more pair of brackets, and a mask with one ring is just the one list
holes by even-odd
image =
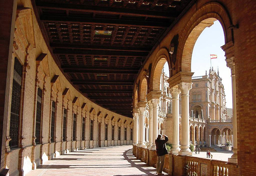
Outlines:
{"label": "second-largest brick arch, just left of the biggest arch", "polygon": [[166,48],[161,48],[156,54],[155,59],[152,62],[152,69],[151,69],[151,75],[150,75],[150,89],[149,89],[150,91],[160,90],[161,72],[165,62],[168,63],[168,67],[170,70],[170,57],[169,57],[168,50]]}

